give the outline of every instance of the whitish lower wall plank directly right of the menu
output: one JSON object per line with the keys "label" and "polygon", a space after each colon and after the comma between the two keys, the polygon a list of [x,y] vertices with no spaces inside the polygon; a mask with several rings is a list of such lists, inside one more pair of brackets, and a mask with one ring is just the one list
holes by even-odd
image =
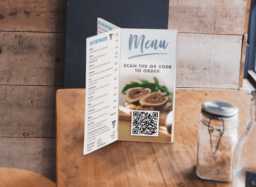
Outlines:
{"label": "whitish lower wall plank directly right of the menu", "polygon": [[179,33],[176,87],[238,89],[242,36]]}

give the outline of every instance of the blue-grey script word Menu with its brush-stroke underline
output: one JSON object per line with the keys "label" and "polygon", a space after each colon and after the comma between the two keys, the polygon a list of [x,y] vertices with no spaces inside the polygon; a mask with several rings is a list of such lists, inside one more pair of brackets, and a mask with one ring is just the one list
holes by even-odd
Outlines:
{"label": "blue-grey script word Menu with its brush-stroke underline", "polygon": [[[137,49],[140,46],[141,53],[143,53],[144,49],[148,48],[153,48],[157,50],[158,48],[166,49],[168,46],[169,42],[166,43],[165,40],[160,40],[158,41],[157,39],[155,40],[146,40],[145,42],[145,35],[141,35],[139,40],[138,40],[138,35],[132,35],[130,34],[129,38],[129,50],[132,49],[132,46],[134,44],[134,49]],[[147,54],[140,54],[140,55],[135,55],[135,56],[130,56],[128,59],[139,57],[139,56],[145,56],[145,55],[154,55],[154,54],[168,54],[168,53],[147,53]]]}

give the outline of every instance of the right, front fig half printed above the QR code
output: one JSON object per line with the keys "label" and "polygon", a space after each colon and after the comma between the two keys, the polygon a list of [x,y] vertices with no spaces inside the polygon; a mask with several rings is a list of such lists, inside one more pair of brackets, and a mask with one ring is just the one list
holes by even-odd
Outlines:
{"label": "right, front fig half printed above the QR code", "polygon": [[162,92],[152,92],[151,94],[139,100],[140,104],[145,107],[162,108],[164,107],[169,98]]}

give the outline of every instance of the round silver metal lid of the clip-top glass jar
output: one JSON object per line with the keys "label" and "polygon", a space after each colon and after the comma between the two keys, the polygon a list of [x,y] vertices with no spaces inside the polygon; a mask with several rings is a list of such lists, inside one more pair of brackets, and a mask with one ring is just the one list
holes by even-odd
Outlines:
{"label": "round silver metal lid of the clip-top glass jar", "polygon": [[222,101],[207,101],[202,104],[202,112],[215,117],[231,118],[238,111],[236,106]]}

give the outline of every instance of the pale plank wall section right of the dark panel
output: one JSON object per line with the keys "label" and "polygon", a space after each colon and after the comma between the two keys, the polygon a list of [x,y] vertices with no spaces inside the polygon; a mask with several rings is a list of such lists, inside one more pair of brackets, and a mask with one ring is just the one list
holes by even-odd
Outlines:
{"label": "pale plank wall section right of the dark panel", "polygon": [[246,0],[170,0],[168,28],[180,33],[177,87],[239,88],[245,14]]}

